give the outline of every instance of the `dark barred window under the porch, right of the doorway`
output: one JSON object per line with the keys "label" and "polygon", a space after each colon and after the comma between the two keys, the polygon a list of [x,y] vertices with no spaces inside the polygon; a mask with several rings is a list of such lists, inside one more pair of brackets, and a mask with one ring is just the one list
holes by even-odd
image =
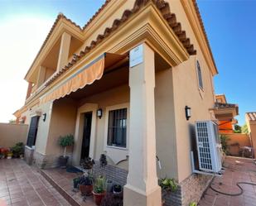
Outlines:
{"label": "dark barred window under the porch, right of the doorway", "polygon": [[127,108],[109,111],[108,146],[126,147]]}

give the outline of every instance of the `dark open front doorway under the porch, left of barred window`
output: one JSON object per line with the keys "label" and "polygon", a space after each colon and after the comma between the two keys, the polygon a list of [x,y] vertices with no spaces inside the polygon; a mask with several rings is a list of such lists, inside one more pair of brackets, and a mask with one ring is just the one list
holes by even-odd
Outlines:
{"label": "dark open front doorway under the porch, left of barred window", "polygon": [[80,159],[85,159],[86,157],[89,157],[92,116],[92,112],[84,113],[84,130]]}

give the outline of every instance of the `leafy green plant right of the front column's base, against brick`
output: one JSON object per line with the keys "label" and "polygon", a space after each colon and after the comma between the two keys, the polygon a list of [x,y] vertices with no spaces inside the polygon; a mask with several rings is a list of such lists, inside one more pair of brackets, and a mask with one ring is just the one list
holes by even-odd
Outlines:
{"label": "leafy green plant right of the front column's base, against brick", "polygon": [[163,178],[159,180],[159,186],[162,188],[162,205],[164,205],[165,197],[171,192],[176,192],[178,184],[173,178]]}

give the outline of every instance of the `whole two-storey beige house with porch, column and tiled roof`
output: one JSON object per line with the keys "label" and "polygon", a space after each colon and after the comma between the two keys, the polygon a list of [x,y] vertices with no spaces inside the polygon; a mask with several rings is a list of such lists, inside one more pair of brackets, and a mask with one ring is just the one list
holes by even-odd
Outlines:
{"label": "whole two-storey beige house with porch, column and tiled roof", "polygon": [[124,205],[160,205],[165,176],[179,183],[167,205],[188,205],[211,178],[192,174],[191,142],[196,120],[215,120],[217,73],[195,1],[108,0],[82,28],[60,14],[15,113],[30,125],[26,157],[56,166],[58,138],[73,134],[70,164],[105,153]]}

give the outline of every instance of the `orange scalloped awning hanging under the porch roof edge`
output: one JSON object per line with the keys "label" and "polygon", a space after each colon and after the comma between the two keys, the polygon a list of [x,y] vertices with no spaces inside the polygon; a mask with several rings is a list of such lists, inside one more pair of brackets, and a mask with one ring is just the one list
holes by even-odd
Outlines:
{"label": "orange scalloped awning hanging under the porch roof edge", "polygon": [[126,55],[117,55],[112,53],[104,53],[97,59],[85,65],[72,74],[69,78],[61,82],[56,88],[46,93],[41,97],[40,103],[54,101],[58,98],[63,98],[65,95],[82,89],[87,84],[93,84],[95,80],[101,79],[104,74],[104,69],[114,65],[119,60],[123,60]]}

